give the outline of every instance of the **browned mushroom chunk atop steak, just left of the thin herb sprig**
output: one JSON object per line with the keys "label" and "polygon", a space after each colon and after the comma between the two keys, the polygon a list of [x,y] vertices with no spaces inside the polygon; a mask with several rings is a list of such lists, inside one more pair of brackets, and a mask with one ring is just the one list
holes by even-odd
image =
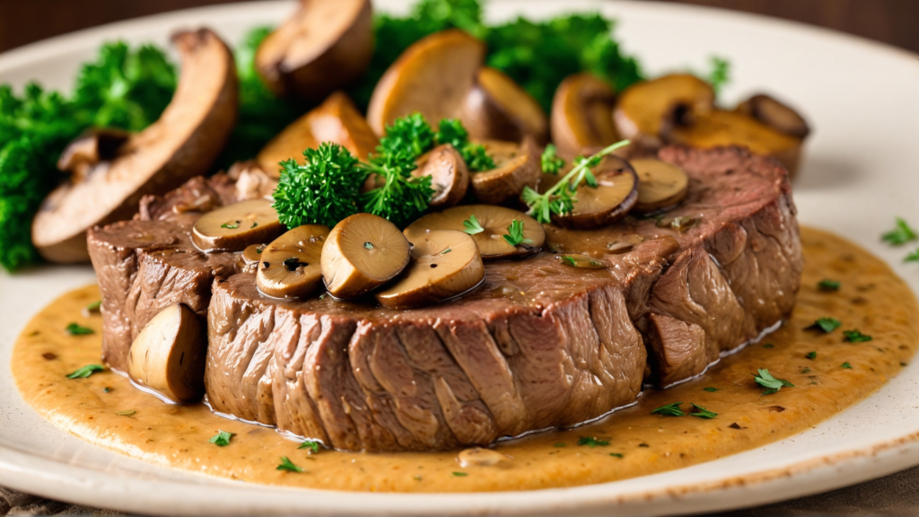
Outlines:
{"label": "browned mushroom chunk atop steak, just left of the thin herb sprig", "polygon": [[488,204],[518,203],[524,187],[536,188],[542,165],[539,146],[532,138],[527,137],[523,144],[489,140],[483,145],[497,167],[471,174],[476,199]]}

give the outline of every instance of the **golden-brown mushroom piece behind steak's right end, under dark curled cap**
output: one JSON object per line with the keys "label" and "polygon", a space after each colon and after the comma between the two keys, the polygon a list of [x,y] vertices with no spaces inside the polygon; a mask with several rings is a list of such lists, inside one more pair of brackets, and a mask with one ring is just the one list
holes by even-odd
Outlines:
{"label": "golden-brown mushroom piece behind steak's right end, under dark curled cap", "polygon": [[770,128],[753,117],[734,111],[712,111],[690,126],[675,128],[675,142],[702,149],[741,145],[756,155],[772,156],[789,170],[798,173],[803,141]]}

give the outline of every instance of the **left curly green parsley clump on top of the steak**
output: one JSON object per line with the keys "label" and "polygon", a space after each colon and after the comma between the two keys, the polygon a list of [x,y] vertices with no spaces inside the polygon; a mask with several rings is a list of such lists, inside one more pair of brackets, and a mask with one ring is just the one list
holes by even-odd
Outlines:
{"label": "left curly green parsley clump on top of the steak", "polygon": [[338,144],[323,143],[303,152],[305,162],[281,162],[281,176],[275,190],[278,219],[288,228],[302,224],[332,227],[359,212],[357,200],[367,174],[357,168],[357,159]]}

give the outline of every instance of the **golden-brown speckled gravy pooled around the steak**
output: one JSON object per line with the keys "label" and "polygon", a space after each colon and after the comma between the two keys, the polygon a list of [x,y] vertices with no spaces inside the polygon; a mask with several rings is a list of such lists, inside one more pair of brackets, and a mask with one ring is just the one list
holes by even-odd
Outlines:
{"label": "golden-brown speckled gravy pooled around the steak", "polygon": [[[65,375],[98,363],[99,316],[81,316],[96,286],[64,294],[35,316],[17,340],[12,367],[23,397],[55,425],[88,442],[155,464],[255,483],[339,490],[456,492],[570,487],[698,464],[775,442],[851,406],[883,385],[913,357],[919,308],[910,289],[879,259],[843,239],[802,229],[806,266],[794,314],[762,342],[724,358],[703,377],[646,392],[632,408],[569,431],[548,431],[494,448],[510,456],[494,466],[461,467],[458,452],[307,454],[278,432],[223,419],[203,405],[166,405],[109,371]],[[817,289],[829,278],[835,293]],[[831,316],[843,327],[822,335],[805,327]],[[69,336],[76,322],[96,330]],[[843,330],[874,339],[848,343]],[[811,360],[808,352],[816,351]],[[851,368],[844,368],[847,362]],[[762,395],[752,373],[767,368],[794,387]],[[110,392],[106,392],[106,387]],[[705,387],[719,388],[707,392]],[[651,410],[676,401],[718,413],[715,419],[666,417]],[[116,413],[136,411],[130,416]],[[688,412],[688,411],[686,411]],[[226,447],[208,440],[235,433]],[[608,445],[578,445],[582,437]],[[621,454],[621,457],[614,454]],[[303,473],[278,471],[287,456]]]}

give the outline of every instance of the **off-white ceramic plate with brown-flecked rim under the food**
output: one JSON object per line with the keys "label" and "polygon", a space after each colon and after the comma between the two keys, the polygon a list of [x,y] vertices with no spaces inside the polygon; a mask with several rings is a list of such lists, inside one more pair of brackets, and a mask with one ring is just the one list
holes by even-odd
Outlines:
{"label": "off-white ceramic plate with brown-flecked rim under the food", "polygon": [[[403,11],[404,2],[378,7]],[[0,83],[72,84],[77,63],[103,40],[166,44],[206,24],[230,41],[277,23],[293,5],[258,3],[146,17],[43,41],[0,55]],[[495,1],[493,19],[599,9],[620,20],[628,52],[652,74],[733,64],[728,103],[765,89],[816,128],[795,184],[800,222],[846,236],[919,292],[919,266],[879,243],[901,215],[919,223],[919,62],[890,47],[834,32],[698,7],[578,0]],[[17,333],[40,307],[94,281],[88,267],[0,274],[0,484],[43,496],[138,513],[170,514],[675,514],[789,499],[919,464],[919,363],[877,394],[810,431],[718,461],[581,488],[489,494],[341,493],[249,485],[190,475],[89,445],[41,419],[18,396],[8,362]]]}

